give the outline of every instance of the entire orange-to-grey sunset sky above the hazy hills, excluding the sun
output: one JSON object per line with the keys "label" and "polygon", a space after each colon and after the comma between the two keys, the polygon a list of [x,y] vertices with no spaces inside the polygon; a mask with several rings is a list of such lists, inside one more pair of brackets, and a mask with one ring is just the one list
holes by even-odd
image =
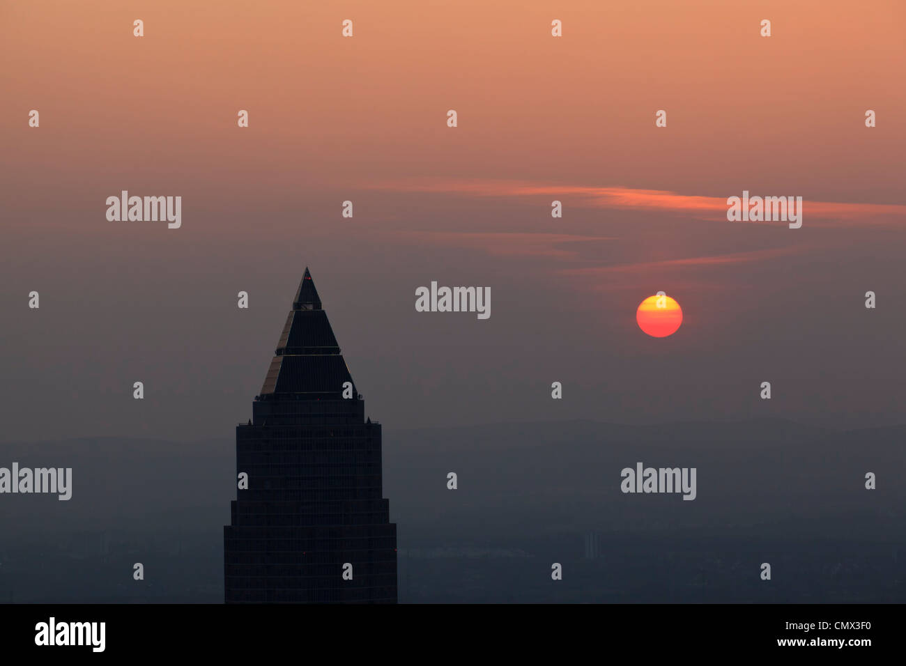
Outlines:
{"label": "entire orange-to-grey sunset sky above the hazy hills, excluding the sun", "polygon": [[[305,266],[388,435],[902,423],[903,19],[897,1],[0,3],[2,439],[231,436]],[[182,226],[108,220],[123,189],[181,196]],[[802,197],[803,226],[729,222],[744,190]],[[432,281],[490,287],[490,318],[416,312]],[[635,312],[658,291],[683,322],[655,339]]]}

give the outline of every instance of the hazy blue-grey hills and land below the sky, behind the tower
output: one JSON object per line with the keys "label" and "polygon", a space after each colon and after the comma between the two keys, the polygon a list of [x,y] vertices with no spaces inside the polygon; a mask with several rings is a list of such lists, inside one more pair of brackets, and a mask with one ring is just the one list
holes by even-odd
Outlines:
{"label": "hazy blue-grey hills and land below the sky, behind the tower", "polygon": [[[901,603],[906,426],[747,426],[384,429],[400,602]],[[0,464],[72,464],[73,481],[69,501],[4,496],[0,601],[223,601],[232,437],[3,450]],[[621,468],[637,461],[697,468],[698,497],[623,494]],[[145,582],[131,579],[137,560]],[[556,584],[551,562],[564,565]]]}

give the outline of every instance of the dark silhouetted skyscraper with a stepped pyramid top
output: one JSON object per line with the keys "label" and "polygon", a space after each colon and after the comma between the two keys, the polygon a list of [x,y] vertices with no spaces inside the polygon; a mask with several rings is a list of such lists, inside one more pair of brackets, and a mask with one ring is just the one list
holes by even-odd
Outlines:
{"label": "dark silhouetted skyscraper with a stepped pyramid top", "polygon": [[252,420],[236,427],[226,603],[396,603],[381,424],[364,410],[306,268]]}

